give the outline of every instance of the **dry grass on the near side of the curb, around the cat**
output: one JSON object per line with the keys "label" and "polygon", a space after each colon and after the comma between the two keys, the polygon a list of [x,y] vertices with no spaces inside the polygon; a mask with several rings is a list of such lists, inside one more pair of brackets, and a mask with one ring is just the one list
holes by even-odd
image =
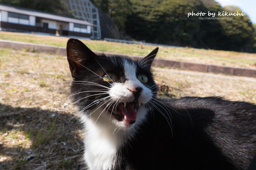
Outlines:
{"label": "dry grass on the near side of the curb, around the cat", "polygon": [[[160,90],[171,91],[161,93],[165,97],[222,96],[256,103],[255,78],[153,69]],[[65,99],[70,80],[64,56],[0,49],[0,169],[77,169],[82,164],[82,126]]]}

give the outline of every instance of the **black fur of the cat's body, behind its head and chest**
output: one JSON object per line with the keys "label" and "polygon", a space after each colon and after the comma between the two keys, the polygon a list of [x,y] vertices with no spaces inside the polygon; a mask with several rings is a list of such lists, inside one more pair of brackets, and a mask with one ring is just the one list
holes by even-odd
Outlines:
{"label": "black fur of the cat's body, behind its head and chest", "polygon": [[169,109],[172,130],[154,109],[135,140],[120,148],[117,169],[247,169],[256,151],[255,105],[215,97],[161,102],[176,111]]}

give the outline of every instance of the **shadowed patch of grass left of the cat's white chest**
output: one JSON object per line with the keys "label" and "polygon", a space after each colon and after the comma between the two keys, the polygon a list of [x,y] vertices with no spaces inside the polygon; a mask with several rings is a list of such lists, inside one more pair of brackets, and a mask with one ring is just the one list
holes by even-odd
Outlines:
{"label": "shadowed patch of grass left of the cat's white chest", "polygon": [[58,114],[0,104],[0,169],[80,169],[81,125]]}

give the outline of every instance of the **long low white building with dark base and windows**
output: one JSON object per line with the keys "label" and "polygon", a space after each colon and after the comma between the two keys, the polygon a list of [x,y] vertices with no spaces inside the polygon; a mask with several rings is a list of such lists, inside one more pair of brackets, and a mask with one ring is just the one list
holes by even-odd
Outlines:
{"label": "long low white building with dark base and windows", "polygon": [[2,31],[34,31],[91,38],[93,26],[80,19],[0,4]]}

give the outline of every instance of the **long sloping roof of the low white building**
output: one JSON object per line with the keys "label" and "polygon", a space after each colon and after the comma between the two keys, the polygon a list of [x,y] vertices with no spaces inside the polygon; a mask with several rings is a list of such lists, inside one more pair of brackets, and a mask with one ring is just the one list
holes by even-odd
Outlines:
{"label": "long sloping roof of the low white building", "polygon": [[82,24],[82,25],[87,25],[87,26],[94,26],[93,24],[89,23],[88,21],[70,18],[70,17],[66,17],[66,16],[61,16],[61,15],[57,15],[57,14],[53,14],[53,13],[42,12],[42,11],[33,10],[33,9],[15,7],[15,6],[11,6],[11,5],[0,4],[0,10],[24,14],[24,15],[31,15],[31,16],[40,17],[40,18],[47,18],[47,19],[51,19],[51,20],[71,22],[71,23]]}

